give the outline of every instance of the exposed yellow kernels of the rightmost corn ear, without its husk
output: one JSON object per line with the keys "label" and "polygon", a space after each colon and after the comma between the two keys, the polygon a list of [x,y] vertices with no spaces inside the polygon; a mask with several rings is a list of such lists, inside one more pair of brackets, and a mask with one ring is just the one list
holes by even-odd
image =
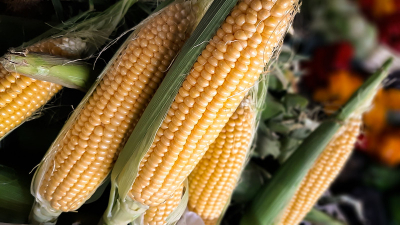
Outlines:
{"label": "exposed yellow kernels of the rightmost corn ear, without its husk", "polygon": [[352,116],[338,130],[334,139],[326,146],[307,176],[302,180],[279,224],[297,225],[301,223],[342,170],[354,149],[361,123],[361,116]]}

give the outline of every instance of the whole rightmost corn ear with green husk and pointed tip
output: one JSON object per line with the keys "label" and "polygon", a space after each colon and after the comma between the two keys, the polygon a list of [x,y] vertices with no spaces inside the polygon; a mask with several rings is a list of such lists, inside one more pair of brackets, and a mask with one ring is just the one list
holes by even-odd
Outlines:
{"label": "whole rightmost corn ear with green husk and pointed tip", "polygon": [[[346,161],[361,114],[370,106],[390,64],[387,61],[332,120],[322,122],[303,141],[258,193],[240,224],[297,224],[305,216]],[[326,157],[329,162],[325,164]]]}

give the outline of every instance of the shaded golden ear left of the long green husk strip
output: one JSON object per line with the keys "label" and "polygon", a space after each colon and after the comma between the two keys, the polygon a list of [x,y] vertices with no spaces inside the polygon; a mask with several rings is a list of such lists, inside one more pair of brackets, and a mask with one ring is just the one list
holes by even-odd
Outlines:
{"label": "shaded golden ear left of the long green husk strip", "polygon": [[110,172],[168,66],[190,33],[190,4],[168,6],[146,21],[105,73],[64,137],[51,149],[39,196],[71,211]]}

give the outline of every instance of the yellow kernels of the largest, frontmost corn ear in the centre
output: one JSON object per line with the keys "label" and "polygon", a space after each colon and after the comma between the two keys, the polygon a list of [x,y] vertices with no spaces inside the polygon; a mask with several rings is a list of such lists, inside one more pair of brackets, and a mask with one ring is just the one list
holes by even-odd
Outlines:
{"label": "yellow kernels of the largest, frontmost corn ear in the centre", "polygon": [[129,196],[155,206],[179,187],[280,46],[295,0],[240,1],[198,57],[139,165]]}

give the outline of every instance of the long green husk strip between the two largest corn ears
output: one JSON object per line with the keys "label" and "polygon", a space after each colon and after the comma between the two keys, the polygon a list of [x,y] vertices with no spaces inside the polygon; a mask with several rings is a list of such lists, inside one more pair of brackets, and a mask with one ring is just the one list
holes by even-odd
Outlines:
{"label": "long green husk strip between the two largest corn ears", "polygon": [[[207,6],[207,2],[209,3],[210,1],[199,3]],[[139,129],[135,129],[132,132],[114,165],[111,173],[110,200],[103,216],[104,221],[112,217],[112,209],[115,202],[130,201],[127,194],[137,176],[141,159],[153,142],[154,135],[190,68],[206,46],[207,41],[214,36],[216,30],[235,4],[236,1],[215,0],[205,15],[199,17],[202,20],[184,44],[181,52],[178,54],[175,62],[172,64],[169,72],[136,125]],[[204,9],[204,7],[199,8],[201,10]],[[140,213],[138,213],[137,217],[139,216]]]}

